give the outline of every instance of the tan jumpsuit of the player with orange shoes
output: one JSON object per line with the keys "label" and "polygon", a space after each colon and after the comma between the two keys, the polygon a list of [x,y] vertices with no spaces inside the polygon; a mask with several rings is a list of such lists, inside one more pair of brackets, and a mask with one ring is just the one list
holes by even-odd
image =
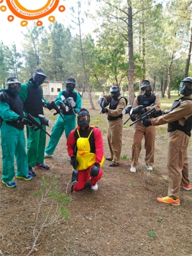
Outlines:
{"label": "tan jumpsuit of the player with orange shoes", "polygon": [[[191,95],[184,99],[191,99]],[[192,100],[185,100],[170,113],[151,120],[151,123],[152,125],[162,125],[179,120],[179,124],[183,126],[191,114]],[[179,198],[180,186],[190,183],[187,155],[189,138],[187,134],[179,130],[168,132],[168,196],[174,199]]]}

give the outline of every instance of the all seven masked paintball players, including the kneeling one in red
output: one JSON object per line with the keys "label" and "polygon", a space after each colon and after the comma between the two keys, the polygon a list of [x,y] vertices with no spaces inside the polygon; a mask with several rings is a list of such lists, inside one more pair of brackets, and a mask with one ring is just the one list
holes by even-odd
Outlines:
{"label": "all seven masked paintball players, including the kneeling one in red", "polygon": [[[62,90],[55,99],[59,105],[66,99],[73,99],[75,106],[62,110],[51,132],[51,138],[45,149],[46,134],[41,129],[35,131],[27,115],[31,114],[38,122],[38,115],[43,115],[43,106],[53,109],[52,102],[43,97],[41,84],[46,79],[45,72],[38,68],[33,77],[26,84],[21,84],[16,77],[9,77],[6,90],[0,93],[1,116],[1,147],[3,155],[2,182],[8,188],[15,188],[14,157],[17,164],[17,179],[31,180],[36,176],[34,168],[48,170],[44,157],[52,157],[57,143],[65,131],[67,150],[70,164],[73,166],[73,190],[80,190],[91,179],[91,189],[98,190],[98,180],[101,179],[101,170],[104,160],[110,161],[110,167],[119,166],[122,148],[122,110],[126,108],[128,100],[122,97],[120,88],[114,84],[110,94],[102,95],[107,100],[101,112],[107,114],[108,119],[108,147],[110,156],[103,156],[103,138],[100,129],[90,125],[90,114],[82,108],[80,94],[75,92],[75,79],[68,77],[66,90]],[[168,123],[168,196],[157,198],[163,204],[179,205],[179,189],[191,190],[188,172],[187,148],[191,136],[192,125],[192,77],[181,81],[181,94],[183,97],[174,102],[169,113],[163,115],[160,110],[160,97],[152,93],[152,86],[148,80],[142,81],[142,93],[135,97],[133,108],[142,105],[142,113],[155,108],[153,117],[137,122],[133,131],[132,163],[130,172],[137,171],[138,156],[142,149],[142,139],[145,137],[145,168],[152,171],[154,164],[155,125]],[[107,108],[107,106],[109,107]],[[68,106],[70,107],[70,106]],[[76,114],[77,124],[76,127]],[[132,115],[131,120],[137,120]],[[64,121],[65,120],[65,121]],[[24,125],[27,126],[27,153]],[[76,128],[75,128],[76,127]],[[45,129],[45,127],[44,127]],[[74,178],[74,179],[73,179]]]}

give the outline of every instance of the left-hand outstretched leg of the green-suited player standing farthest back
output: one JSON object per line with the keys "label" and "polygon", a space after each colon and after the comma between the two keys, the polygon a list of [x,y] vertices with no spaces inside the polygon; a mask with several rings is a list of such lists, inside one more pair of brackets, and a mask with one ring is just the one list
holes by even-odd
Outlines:
{"label": "left-hand outstretched leg of the green-suited player standing farthest back", "polygon": [[64,121],[61,118],[61,116],[59,116],[50,134],[51,138],[48,140],[48,145],[47,145],[47,148],[45,149],[45,153],[47,153],[48,155],[54,154],[54,150],[57,147],[57,144],[61,138],[61,135],[63,134],[63,131],[64,131]]}

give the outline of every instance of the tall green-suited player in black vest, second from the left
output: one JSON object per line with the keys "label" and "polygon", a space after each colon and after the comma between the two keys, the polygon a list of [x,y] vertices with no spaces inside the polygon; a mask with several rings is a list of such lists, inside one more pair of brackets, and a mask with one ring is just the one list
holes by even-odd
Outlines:
{"label": "tall green-suited player in black vest, second from the left", "polygon": [[[34,71],[33,78],[29,79],[26,84],[21,84],[21,90],[18,97],[24,102],[24,111],[31,114],[39,123],[38,115],[43,115],[43,103],[45,102],[48,109],[52,109],[52,104],[43,97],[43,89],[41,84],[45,81],[45,72],[41,68]],[[43,125],[45,129],[45,125]],[[46,134],[41,129],[34,131],[33,128],[27,126],[27,161],[29,175],[36,175],[33,167],[42,170],[48,170],[49,166],[45,165]]]}

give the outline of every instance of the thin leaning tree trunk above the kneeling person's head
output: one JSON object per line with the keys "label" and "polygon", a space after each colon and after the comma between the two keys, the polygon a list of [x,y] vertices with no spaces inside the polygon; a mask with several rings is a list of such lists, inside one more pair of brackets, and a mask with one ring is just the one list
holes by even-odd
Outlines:
{"label": "thin leaning tree trunk above the kneeling person's head", "polygon": [[84,59],[84,49],[83,49],[83,45],[82,45],[82,35],[81,35],[81,29],[80,29],[80,10],[78,7],[78,28],[79,28],[79,38],[80,38],[80,49],[81,49],[81,56],[82,56],[82,64],[83,64],[83,68],[84,68],[84,77],[85,77],[85,86],[86,86],[86,90],[88,92],[89,95],[89,102],[91,104],[91,109],[95,109],[94,108],[94,104],[92,102],[92,97],[91,97],[91,92],[89,89],[89,83],[88,83],[88,79],[87,79],[87,72],[85,69],[85,59]]}

